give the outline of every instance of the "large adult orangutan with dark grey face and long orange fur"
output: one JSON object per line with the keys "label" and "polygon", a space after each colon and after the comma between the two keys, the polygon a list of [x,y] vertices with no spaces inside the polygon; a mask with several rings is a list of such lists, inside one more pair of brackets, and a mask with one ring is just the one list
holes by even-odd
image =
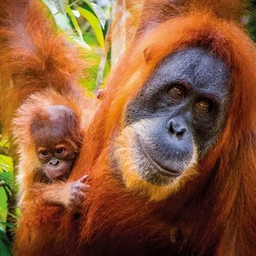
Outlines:
{"label": "large adult orangutan with dark grey face and long orange fur", "polygon": [[[35,15],[36,2],[11,2],[0,10]],[[255,254],[256,66],[244,10],[145,2],[71,175],[91,178],[82,215],[31,205],[16,255]]]}

